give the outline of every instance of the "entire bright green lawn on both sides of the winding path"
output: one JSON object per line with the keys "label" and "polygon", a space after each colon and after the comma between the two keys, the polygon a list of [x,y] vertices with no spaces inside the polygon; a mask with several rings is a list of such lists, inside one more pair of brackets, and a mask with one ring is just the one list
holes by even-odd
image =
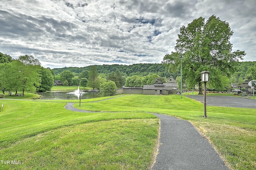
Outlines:
{"label": "entire bright green lawn on both sides of the winding path", "polygon": [[[191,93],[192,94],[192,93]],[[180,95],[126,95],[68,101],[0,100],[0,169],[148,169],[159,120],[150,112],[190,121],[234,169],[256,169],[256,109],[207,107]],[[104,113],[112,111],[111,113]]]}

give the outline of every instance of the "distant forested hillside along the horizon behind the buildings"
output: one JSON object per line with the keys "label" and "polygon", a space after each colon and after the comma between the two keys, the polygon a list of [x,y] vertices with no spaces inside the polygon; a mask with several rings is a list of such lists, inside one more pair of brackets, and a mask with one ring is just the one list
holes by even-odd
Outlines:
{"label": "distant forested hillside along the horizon behind the buildings", "polygon": [[[186,64],[186,63],[184,63]],[[180,76],[180,71],[176,73],[169,73],[166,65],[161,63],[140,63],[133,65],[96,65],[98,73],[104,73],[108,75],[109,73],[120,71],[124,77],[131,77],[133,75],[146,76],[157,74],[160,77],[170,77],[173,76],[176,79],[177,76]],[[81,73],[82,71],[89,71],[92,65],[86,67],[63,67],[63,68],[54,68],[52,71],[55,75],[62,73],[64,70],[69,70],[72,73]],[[241,83],[245,79],[256,79],[256,61],[241,61],[238,62],[237,71],[234,72],[230,78],[231,83]]]}

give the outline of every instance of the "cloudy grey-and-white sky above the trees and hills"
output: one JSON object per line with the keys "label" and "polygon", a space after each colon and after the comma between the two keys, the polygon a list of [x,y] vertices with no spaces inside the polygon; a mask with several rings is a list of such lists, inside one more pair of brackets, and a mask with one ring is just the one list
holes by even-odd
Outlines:
{"label": "cloudy grey-and-white sky above the trees and hills", "polygon": [[1,0],[0,52],[44,67],[161,63],[180,27],[216,15],[256,61],[256,0]]}

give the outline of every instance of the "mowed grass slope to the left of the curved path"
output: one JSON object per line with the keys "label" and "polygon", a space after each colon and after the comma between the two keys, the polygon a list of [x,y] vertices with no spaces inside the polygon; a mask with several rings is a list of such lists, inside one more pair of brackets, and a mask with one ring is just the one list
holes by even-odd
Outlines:
{"label": "mowed grass slope to the left of the curved path", "polygon": [[158,140],[150,113],[79,113],[66,103],[1,100],[0,169],[147,169]]}

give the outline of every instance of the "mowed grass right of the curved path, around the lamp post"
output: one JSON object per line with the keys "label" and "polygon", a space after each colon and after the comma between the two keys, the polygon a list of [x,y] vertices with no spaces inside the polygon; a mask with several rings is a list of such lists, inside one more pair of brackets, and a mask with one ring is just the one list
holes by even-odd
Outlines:
{"label": "mowed grass right of the curved path, around the lamp post", "polygon": [[180,95],[138,95],[113,98],[99,103],[75,103],[90,111],[143,111],[172,115],[190,121],[210,140],[234,170],[256,169],[256,109],[207,106]]}

